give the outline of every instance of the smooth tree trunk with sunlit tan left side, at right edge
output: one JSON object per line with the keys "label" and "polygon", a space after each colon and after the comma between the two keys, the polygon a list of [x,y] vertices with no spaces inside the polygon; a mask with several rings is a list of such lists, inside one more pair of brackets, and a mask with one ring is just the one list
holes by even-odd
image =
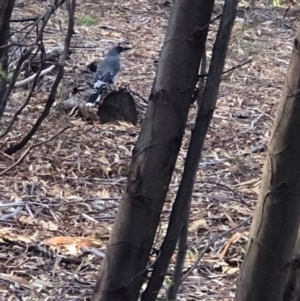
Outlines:
{"label": "smooth tree trunk with sunlit tan left side, at right edge", "polygon": [[300,222],[300,30],[264,166],[237,301],[282,301]]}

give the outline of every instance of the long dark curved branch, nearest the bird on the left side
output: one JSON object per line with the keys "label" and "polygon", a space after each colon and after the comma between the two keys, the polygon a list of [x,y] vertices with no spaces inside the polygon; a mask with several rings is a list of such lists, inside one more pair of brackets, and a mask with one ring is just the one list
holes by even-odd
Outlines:
{"label": "long dark curved branch, nearest the bird on the left side", "polygon": [[15,145],[9,147],[8,149],[6,149],[5,150],[6,154],[11,155],[11,154],[17,152],[18,150],[22,149],[27,144],[27,142],[33,137],[33,135],[36,133],[36,131],[40,127],[43,120],[50,113],[50,109],[51,109],[53,103],[55,102],[57,88],[60,84],[60,81],[61,81],[63,75],[64,75],[64,65],[65,65],[66,58],[68,56],[68,50],[69,50],[69,47],[70,47],[71,38],[72,38],[72,35],[74,33],[75,7],[76,7],[76,0],[70,1],[70,3],[68,4],[69,21],[68,21],[68,29],[67,29],[67,34],[66,34],[65,44],[64,44],[64,52],[61,55],[60,62],[58,64],[58,74],[57,74],[57,77],[56,77],[56,79],[55,79],[55,81],[52,85],[52,88],[51,88],[48,100],[46,102],[44,111],[42,112],[40,117],[37,119],[36,123],[31,128],[29,133],[23,138],[23,140],[21,142],[15,144]]}

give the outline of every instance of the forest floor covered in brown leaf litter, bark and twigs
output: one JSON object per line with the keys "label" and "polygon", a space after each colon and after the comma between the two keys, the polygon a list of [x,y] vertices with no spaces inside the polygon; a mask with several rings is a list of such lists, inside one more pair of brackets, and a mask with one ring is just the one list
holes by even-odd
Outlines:
{"label": "forest floor covered in brown leaf litter, bark and twigs", "polygon": [[[43,14],[47,2],[36,2],[22,6],[24,1],[17,1],[13,18]],[[74,87],[90,91],[92,74],[87,65],[100,61],[111,45],[123,40],[128,40],[132,49],[123,55],[118,84],[148,99],[168,24],[168,4],[159,0],[122,4],[78,1],[73,54],[57,103]],[[217,7],[215,14],[219,13]],[[208,243],[210,247],[183,283],[180,300],[234,300],[250,222],[215,238],[253,214],[267,142],[292,53],[297,21],[292,11],[284,16],[284,9],[240,7],[238,15],[225,70],[252,61],[223,77],[193,191],[185,271]],[[44,39],[47,47],[61,43],[60,28],[66,28],[66,16],[65,8],[53,16]],[[12,29],[17,26],[21,25],[13,23]],[[212,24],[208,58],[217,28],[217,22]],[[126,122],[91,124],[63,115],[56,106],[23,150],[5,155],[3,151],[20,141],[41,114],[54,75],[43,77],[30,104],[1,139],[0,300],[90,300],[102,262],[101,253],[93,248],[105,251],[140,131],[141,122],[137,126]],[[2,131],[28,91],[13,91],[0,122]],[[141,98],[135,100],[143,108]],[[140,109],[141,120],[144,113]],[[156,247],[167,228],[195,115],[193,106]],[[47,140],[65,127],[59,136]],[[39,142],[43,143],[37,145]]]}

